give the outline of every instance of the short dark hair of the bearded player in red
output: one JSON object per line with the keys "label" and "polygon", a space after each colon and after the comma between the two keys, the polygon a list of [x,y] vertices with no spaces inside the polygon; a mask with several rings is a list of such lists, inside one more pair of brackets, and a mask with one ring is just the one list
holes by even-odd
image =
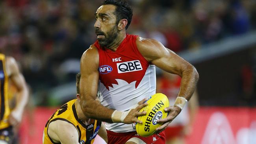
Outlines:
{"label": "short dark hair of the bearded player in red", "polygon": [[126,0],[104,0],[102,5],[112,4],[116,6],[115,15],[117,17],[117,24],[121,19],[127,19],[128,23],[125,27],[127,30],[132,22],[132,7],[126,2]]}

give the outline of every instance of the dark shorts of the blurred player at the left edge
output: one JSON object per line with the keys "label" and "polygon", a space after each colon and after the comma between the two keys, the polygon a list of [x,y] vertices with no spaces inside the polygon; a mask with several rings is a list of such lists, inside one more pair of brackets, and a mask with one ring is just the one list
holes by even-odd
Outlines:
{"label": "dark shorts of the blurred player at the left edge", "polygon": [[5,129],[0,129],[0,140],[4,140],[7,144],[11,144],[13,141],[14,133],[13,127],[7,127]]}

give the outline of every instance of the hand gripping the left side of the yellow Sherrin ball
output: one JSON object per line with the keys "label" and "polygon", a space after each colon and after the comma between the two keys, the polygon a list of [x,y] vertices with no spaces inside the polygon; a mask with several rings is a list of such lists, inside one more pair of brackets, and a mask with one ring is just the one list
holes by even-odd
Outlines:
{"label": "hand gripping the left side of the yellow Sherrin ball", "polygon": [[141,100],[140,102],[138,102],[138,106],[134,109],[130,109],[128,115],[124,118],[124,124],[132,124],[134,122],[137,122],[139,124],[142,124],[142,122],[140,120],[137,119],[138,116],[143,116],[146,115],[147,112],[143,111],[143,112],[139,112],[139,110],[141,110],[143,107],[146,107],[148,105],[148,103],[146,102],[147,98]]}

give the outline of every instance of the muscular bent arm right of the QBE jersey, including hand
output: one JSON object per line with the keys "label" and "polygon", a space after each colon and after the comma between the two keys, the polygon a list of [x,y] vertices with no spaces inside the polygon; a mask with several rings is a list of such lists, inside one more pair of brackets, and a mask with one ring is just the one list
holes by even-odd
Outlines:
{"label": "muscular bent arm right of the QBE jersey, including hand", "polygon": [[[138,37],[136,43],[138,50],[147,61],[166,72],[178,74],[182,77],[178,98],[182,100],[182,105],[185,104],[195,91],[199,78],[195,67],[156,40]],[[169,115],[165,119],[158,120],[158,122],[163,122],[164,124],[156,129],[157,132],[163,131],[168,126],[182,110],[182,105],[175,105],[165,109],[165,111],[169,112]]]}

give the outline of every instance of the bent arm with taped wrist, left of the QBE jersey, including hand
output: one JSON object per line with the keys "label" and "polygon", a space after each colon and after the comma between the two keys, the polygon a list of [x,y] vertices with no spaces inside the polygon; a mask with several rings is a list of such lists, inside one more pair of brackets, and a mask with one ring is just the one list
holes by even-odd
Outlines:
{"label": "bent arm with taped wrist, left of the QBE jersey, including hand", "polygon": [[142,100],[135,109],[131,109],[132,113],[115,111],[102,106],[95,100],[98,91],[99,80],[99,55],[98,50],[93,45],[86,50],[80,63],[80,95],[82,111],[88,118],[97,119],[104,122],[123,122],[132,124],[133,122],[142,123],[137,119],[137,116],[146,114],[140,113],[139,110],[147,105],[145,100]]}

